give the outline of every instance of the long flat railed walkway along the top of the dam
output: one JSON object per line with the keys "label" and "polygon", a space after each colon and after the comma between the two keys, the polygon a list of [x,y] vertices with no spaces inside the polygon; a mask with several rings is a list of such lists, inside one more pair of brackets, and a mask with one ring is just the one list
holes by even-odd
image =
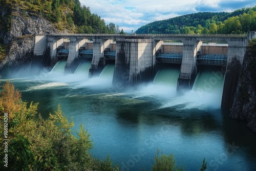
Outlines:
{"label": "long flat railed walkway along the top of the dam", "polygon": [[37,34],[47,35],[59,38],[70,38],[72,36],[83,38],[102,38],[102,39],[155,39],[155,40],[187,40],[187,38],[196,38],[196,40],[207,41],[245,41],[248,34]]}

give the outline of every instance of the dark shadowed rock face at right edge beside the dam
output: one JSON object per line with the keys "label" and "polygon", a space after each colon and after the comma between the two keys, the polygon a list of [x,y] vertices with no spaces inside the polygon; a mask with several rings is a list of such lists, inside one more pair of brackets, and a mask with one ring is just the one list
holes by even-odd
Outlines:
{"label": "dark shadowed rock face at right edge beside the dam", "polygon": [[246,120],[256,132],[256,39],[247,46],[230,117]]}

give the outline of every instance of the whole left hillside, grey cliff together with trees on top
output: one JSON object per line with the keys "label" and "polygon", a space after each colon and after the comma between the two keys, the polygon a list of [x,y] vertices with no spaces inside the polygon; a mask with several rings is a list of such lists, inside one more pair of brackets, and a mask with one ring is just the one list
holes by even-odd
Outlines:
{"label": "whole left hillside, grey cliff together with trees on top", "polygon": [[122,33],[79,0],[0,0],[0,70],[30,66],[33,35]]}

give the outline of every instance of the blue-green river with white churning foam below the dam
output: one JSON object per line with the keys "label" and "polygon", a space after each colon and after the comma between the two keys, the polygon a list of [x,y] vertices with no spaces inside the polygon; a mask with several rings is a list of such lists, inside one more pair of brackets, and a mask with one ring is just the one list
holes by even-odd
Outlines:
{"label": "blue-green river with white churning foam below the dam", "polygon": [[[39,102],[45,118],[60,103],[65,115],[73,116],[74,130],[81,123],[88,129],[92,155],[102,159],[110,155],[122,170],[150,170],[157,148],[173,153],[185,170],[199,170],[204,157],[207,170],[256,168],[256,135],[245,122],[230,119],[229,111],[220,109],[221,91],[216,85],[223,86],[221,75],[202,71],[192,91],[177,95],[170,83],[155,84],[159,76],[176,78],[176,71],[161,70],[154,84],[119,92],[111,89],[112,72],[110,65],[101,73],[104,78],[46,73],[11,81],[23,100]],[[204,83],[217,93],[205,91]]]}

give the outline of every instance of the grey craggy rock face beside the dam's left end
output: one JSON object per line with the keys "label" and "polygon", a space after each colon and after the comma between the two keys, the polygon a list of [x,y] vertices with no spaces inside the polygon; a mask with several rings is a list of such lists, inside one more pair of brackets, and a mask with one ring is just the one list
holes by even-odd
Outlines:
{"label": "grey craggy rock face beside the dam's left end", "polygon": [[34,34],[67,33],[67,31],[58,31],[55,25],[39,14],[35,16],[19,8],[11,10],[4,6],[0,7],[0,11],[0,17],[5,18],[5,24],[6,20],[10,23],[10,28],[0,30],[0,38],[5,45],[8,45],[7,57],[0,63],[0,69],[4,66],[15,70],[30,66],[33,58]]}

